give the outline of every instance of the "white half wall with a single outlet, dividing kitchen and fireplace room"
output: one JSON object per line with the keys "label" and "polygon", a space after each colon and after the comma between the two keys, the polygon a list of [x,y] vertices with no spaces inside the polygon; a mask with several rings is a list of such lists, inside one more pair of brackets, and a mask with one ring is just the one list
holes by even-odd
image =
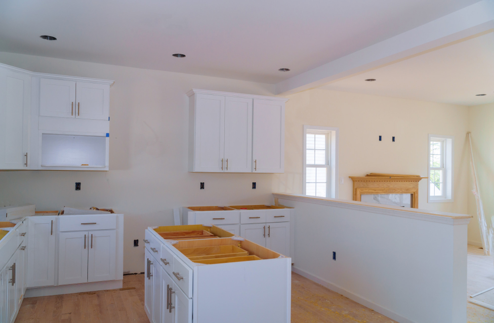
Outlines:
{"label": "white half wall with a single outlet, dividing kitchen and fireplace room", "polygon": [[296,210],[296,273],[401,323],[466,322],[468,218],[275,197]]}

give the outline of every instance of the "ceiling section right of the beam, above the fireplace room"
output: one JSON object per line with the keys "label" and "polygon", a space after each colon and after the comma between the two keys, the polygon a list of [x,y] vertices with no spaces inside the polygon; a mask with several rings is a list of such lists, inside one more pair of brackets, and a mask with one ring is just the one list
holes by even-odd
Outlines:
{"label": "ceiling section right of the beam, above the fireplace room", "polygon": [[494,33],[443,46],[321,88],[469,106],[492,103]]}

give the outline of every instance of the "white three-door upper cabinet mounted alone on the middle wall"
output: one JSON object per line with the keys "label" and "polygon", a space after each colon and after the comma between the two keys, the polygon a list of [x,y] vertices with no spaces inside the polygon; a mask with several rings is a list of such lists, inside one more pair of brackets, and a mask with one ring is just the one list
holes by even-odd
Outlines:
{"label": "white three-door upper cabinet mounted alone on the middle wall", "polygon": [[197,89],[187,95],[189,171],[284,172],[288,99]]}

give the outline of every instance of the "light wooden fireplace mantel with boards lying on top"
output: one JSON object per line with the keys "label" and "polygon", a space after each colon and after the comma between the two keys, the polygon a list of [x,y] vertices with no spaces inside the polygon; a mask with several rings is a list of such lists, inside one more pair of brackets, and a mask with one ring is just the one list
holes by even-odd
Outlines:
{"label": "light wooden fireplace mantel with boards lying on top", "polygon": [[418,182],[427,178],[379,173],[349,177],[353,181],[353,201],[362,201],[362,194],[412,194],[413,208],[418,208]]}

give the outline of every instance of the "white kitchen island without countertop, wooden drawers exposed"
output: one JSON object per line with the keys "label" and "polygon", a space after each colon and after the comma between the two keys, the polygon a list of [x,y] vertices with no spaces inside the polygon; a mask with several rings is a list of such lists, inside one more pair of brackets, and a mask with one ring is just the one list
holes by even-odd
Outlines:
{"label": "white kitchen island without countertop, wooden drawers exposed", "polygon": [[[197,230],[209,230],[213,237],[163,238],[166,232],[184,236]],[[145,235],[145,310],[150,322],[192,323],[193,317],[198,323],[290,322],[291,258],[235,240],[215,225],[148,228]],[[161,253],[151,250],[158,246]],[[237,297],[231,297],[233,293]],[[252,306],[246,308],[239,297]]]}

